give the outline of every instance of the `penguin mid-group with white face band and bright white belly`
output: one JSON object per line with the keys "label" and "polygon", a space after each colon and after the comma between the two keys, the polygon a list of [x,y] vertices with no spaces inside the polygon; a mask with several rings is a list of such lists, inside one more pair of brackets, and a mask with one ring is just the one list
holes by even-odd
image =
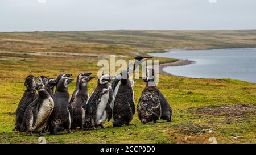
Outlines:
{"label": "penguin mid-group with white face band and bright white belly", "polygon": [[88,103],[83,103],[85,109],[85,128],[96,129],[99,125],[104,128],[106,120],[112,118],[112,109],[110,104],[114,104],[114,92],[111,88],[111,77],[108,74],[102,75],[98,79],[96,89]]}

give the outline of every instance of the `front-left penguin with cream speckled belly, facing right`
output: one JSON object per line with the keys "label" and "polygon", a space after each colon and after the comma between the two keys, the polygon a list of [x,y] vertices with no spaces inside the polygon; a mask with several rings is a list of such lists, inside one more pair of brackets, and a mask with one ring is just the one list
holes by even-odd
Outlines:
{"label": "front-left penguin with cream speckled belly, facing right", "polygon": [[38,97],[28,105],[20,132],[30,132],[31,135],[34,132],[42,136],[42,131],[52,113],[54,102],[42,81],[36,82],[35,89],[38,91]]}

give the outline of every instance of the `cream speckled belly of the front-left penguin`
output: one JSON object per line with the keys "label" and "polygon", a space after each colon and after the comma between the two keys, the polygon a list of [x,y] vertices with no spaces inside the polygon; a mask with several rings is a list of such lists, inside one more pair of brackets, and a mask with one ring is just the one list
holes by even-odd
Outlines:
{"label": "cream speckled belly of the front-left penguin", "polygon": [[47,122],[49,115],[51,115],[53,107],[54,102],[51,97],[43,101],[36,116],[36,123],[32,130],[35,130],[36,128],[40,127],[41,125],[44,125],[44,123]]}

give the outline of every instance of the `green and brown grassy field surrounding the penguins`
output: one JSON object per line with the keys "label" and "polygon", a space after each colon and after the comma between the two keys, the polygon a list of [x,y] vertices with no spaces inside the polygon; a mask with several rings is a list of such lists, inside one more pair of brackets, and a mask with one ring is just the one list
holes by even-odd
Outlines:
{"label": "green and brown grassy field surrounding the penguins", "polygon": [[[97,74],[97,61],[114,54],[128,60],[164,49],[256,47],[256,30],[243,31],[88,31],[0,33],[0,143],[38,143],[38,136],[12,131],[15,110],[28,74]],[[157,58],[161,63],[176,61]],[[256,84],[232,79],[159,76],[158,88],[173,109],[172,122],[44,135],[47,143],[256,143]],[[97,80],[89,83],[89,92]],[[144,88],[135,81],[135,104]],[[75,89],[75,82],[69,92]],[[212,133],[203,132],[212,129]],[[237,137],[240,136],[240,137]]]}

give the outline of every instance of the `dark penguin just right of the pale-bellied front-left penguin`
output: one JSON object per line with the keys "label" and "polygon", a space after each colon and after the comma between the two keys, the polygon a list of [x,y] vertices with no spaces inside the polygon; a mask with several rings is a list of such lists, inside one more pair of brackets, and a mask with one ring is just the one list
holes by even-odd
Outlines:
{"label": "dark penguin just right of the pale-bellied front-left penguin", "polygon": [[56,135],[59,131],[68,130],[71,133],[71,112],[69,111],[68,85],[73,79],[61,78],[58,82],[53,100],[54,108],[48,120],[50,134]]}

